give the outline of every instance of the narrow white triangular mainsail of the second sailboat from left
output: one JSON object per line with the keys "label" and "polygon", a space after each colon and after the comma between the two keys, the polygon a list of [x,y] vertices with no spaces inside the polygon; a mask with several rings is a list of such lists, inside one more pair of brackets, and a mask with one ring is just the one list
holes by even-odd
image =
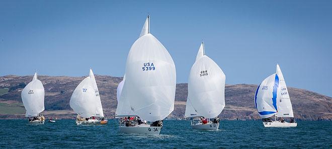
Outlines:
{"label": "narrow white triangular mainsail of the second sailboat from left", "polygon": [[95,90],[95,95],[96,95],[96,97],[95,97],[96,98],[96,112],[93,116],[104,117],[102,101],[100,100],[100,95],[99,95],[95,75],[94,75],[94,72],[92,72],[91,68],[90,68],[90,75],[89,76],[91,78],[91,82],[93,84],[93,87],[94,87],[94,90]]}

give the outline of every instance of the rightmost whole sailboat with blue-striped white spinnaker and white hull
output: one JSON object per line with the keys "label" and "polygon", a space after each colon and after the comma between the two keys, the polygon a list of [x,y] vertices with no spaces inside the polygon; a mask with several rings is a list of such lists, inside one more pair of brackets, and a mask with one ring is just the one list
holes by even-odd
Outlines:
{"label": "rightmost whole sailboat with blue-striped white spinnaker and white hull", "polygon": [[[255,105],[264,127],[296,127],[292,103],[284,76],[277,64],[277,72],[266,78],[257,88]],[[273,118],[274,116],[274,121]],[[290,118],[286,122],[284,118]],[[278,120],[277,120],[278,118]]]}

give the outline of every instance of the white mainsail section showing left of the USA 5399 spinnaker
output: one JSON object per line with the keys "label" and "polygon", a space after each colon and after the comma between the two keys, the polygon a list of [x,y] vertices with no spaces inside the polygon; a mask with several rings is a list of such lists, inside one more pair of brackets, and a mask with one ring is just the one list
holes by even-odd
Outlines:
{"label": "white mainsail section showing left of the USA 5399 spinnaker", "polygon": [[123,86],[126,80],[126,75],[123,77],[123,80],[119,83],[116,96],[118,105],[115,111],[115,116],[132,116],[135,115],[134,112],[130,108],[130,103],[128,99],[124,96]]}

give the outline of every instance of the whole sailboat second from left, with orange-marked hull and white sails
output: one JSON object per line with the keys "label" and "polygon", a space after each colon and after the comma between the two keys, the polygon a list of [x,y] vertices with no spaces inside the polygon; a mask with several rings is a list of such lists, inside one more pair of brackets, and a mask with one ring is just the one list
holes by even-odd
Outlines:
{"label": "whole sailboat second from left, with orange-marked hull and white sails", "polygon": [[104,117],[96,79],[92,69],[90,75],[76,87],[70,98],[70,107],[77,113],[77,125],[103,125]]}

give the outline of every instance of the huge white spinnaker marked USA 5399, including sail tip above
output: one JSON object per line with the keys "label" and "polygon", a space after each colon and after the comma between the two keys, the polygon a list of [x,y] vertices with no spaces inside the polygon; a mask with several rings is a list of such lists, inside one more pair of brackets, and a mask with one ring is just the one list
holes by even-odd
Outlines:
{"label": "huge white spinnaker marked USA 5399, including sail tip above", "polygon": [[147,121],[162,120],[174,110],[176,69],[167,49],[149,33],[149,17],[130,48],[121,98]]}

